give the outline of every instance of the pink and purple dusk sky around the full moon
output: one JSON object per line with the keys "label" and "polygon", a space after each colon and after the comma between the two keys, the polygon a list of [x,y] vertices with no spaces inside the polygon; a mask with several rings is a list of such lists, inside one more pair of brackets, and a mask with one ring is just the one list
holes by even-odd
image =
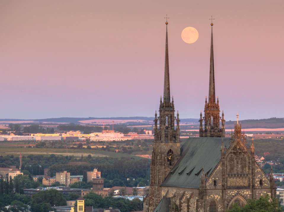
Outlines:
{"label": "pink and purple dusk sky around the full moon", "polygon": [[[153,116],[166,14],[180,118],[204,110],[211,15],[225,119],[283,117],[283,0],[9,0],[0,8],[0,118]],[[194,44],[181,39],[188,26],[199,32]]]}

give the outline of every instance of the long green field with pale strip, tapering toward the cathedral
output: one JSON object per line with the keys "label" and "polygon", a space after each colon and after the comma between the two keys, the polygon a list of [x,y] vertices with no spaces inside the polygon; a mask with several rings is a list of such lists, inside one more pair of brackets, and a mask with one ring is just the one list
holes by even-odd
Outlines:
{"label": "long green field with pale strip, tapering toward the cathedral", "polygon": [[31,147],[17,147],[15,143],[13,145],[7,143],[0,143],[0,155],[18,155],[22,152],[22,155],[73,155],[77,157],[88,156],[89,154],[93,157],[115,157],[115,158],[140,158],[135,155],[128,155],[116,152],[107,152],[102,150],[87,150],[87,149],[59,149],[59,148],[31,148]]}

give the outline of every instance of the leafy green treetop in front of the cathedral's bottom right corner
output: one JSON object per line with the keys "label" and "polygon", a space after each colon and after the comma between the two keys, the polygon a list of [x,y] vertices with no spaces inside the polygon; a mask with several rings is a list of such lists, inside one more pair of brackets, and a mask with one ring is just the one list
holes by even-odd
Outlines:
{"label": "leafy green treetop in front of the cathedral's bottom right corner", "polygon": [[248,204],[240,208],[235,203],[228,212],[281,212],[278,199],[270,199],[269,195],[261,196],[259,199],[250,199]]}

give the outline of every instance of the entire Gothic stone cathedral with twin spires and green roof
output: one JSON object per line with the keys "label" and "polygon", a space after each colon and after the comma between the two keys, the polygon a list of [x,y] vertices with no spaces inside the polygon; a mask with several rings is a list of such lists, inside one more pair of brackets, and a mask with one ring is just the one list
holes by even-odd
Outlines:
{"label": "entire Gothic stone cathedral with twin spires and green roof", "polygon": [[234,132],[225,138],[224,113],[220,116],[219,99],[216,101],[215,97],[213,23],[209,95],[204,117],[200,113],[199,137],[190,137],[180,146],[179,113],[175,116],[174,100],[170,98],[167,27],[168,22],[164,94],[159,116],[155,113],[150,187],[144,199],[144,212],[228,211],[235,203],[242,207],[248,199],[261,195],[275,198],[272,170],[267,177],[256,163],[253,141],[246,147],[238,115]]}

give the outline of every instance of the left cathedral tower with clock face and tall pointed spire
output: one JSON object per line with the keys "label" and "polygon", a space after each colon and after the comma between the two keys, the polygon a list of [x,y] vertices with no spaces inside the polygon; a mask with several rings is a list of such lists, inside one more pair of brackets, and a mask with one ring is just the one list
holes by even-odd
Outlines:
{"label": "left cathedral tower with clock face and tall pointed spire", "polygon": [[[168,22],[166,22],[166,53],[164,96],[160,99],[159,116],[155,113],[155,140],[150,164],[150,188],[144,200],[144,211],[152,212],[160,202],[161,184],[180,157],[179,113],[174,116],[174,99],[170,99]],[[159,126],[158,126],[159,121]],[[175,128],[175,121],[177,126]]]}

